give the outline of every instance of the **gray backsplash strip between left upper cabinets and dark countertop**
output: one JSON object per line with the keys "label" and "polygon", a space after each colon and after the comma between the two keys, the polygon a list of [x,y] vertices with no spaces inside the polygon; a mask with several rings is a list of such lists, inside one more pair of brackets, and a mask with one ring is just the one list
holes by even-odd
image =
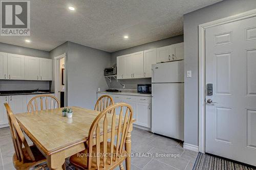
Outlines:
{"label": "gray backsplash strip between left upper cabinets and dark countertop", "polygon": [[49,90],[50,81],[0,80],[0,91],[6,90]]}

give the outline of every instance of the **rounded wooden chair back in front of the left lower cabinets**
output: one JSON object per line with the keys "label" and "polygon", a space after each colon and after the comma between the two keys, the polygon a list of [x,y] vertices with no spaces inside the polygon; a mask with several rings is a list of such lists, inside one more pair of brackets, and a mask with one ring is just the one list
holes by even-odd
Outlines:
{"label": "rounded wooden chair back in front of the left lower cabinets", "polygon": [[48,110],[59,108],[59,100],[50,94],[40,94],[34,96],[27,106],[28,112],[34,112],[38,110]]}

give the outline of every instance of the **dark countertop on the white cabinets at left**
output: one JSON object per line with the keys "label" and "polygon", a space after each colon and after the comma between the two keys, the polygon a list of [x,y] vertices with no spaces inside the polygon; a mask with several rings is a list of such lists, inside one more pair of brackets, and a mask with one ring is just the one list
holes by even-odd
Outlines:
{"label": "dark countertop on the white cabinets at left", "polygon": [[12,91],[0,91],[0,96],[3,95],[28,95],[28,94],[52,94],[50,90],[12,90]]}

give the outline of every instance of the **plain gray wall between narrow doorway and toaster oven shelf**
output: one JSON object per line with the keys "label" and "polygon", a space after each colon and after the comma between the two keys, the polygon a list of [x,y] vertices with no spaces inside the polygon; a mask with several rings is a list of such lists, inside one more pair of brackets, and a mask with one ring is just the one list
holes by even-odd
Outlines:
{"label": "plain gray wall between narrow doorway and toaster oven shelf", "polygon": [[68,106],[94,109],[98,87],[108,88],[103,70],[110,67],[110,57],[108,52],[68,42]]}

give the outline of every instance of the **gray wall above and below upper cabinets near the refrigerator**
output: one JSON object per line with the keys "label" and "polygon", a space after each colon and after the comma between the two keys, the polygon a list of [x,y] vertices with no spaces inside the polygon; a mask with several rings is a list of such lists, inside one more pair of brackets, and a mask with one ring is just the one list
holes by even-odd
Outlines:
{"label": "gray wall above and below upper cabinets near the refrigerator", "polygon": [[[135,53],[135,52],[139,52],[139,51],[143,51],[143,50],[149,50],[152,48],[158,48],[158,47],[162,47],[162,46],[172,45],[172,44],[179,43],[179,42],[183,42],[183,35],[170,37],[170,38],[166,38],[163,40],[154,41],[154,42],[134,46],[131,48],[127,48],[124,50],[120,50],[117,52],[113,52],[113,53],[111,53],[111,66],[116,64],[116,57],[118,57],[118,56],[125,55],[125,54],[131,54],[131,53]],[[126,89],[136,89],[137,84],[151,84],[151,78],[127,79],[127,80],[119,80],[119,81],[122,84],[125,84]],[[122,88],[122,86],[116,81],[112,81],[110,87],[111,88]]]}

